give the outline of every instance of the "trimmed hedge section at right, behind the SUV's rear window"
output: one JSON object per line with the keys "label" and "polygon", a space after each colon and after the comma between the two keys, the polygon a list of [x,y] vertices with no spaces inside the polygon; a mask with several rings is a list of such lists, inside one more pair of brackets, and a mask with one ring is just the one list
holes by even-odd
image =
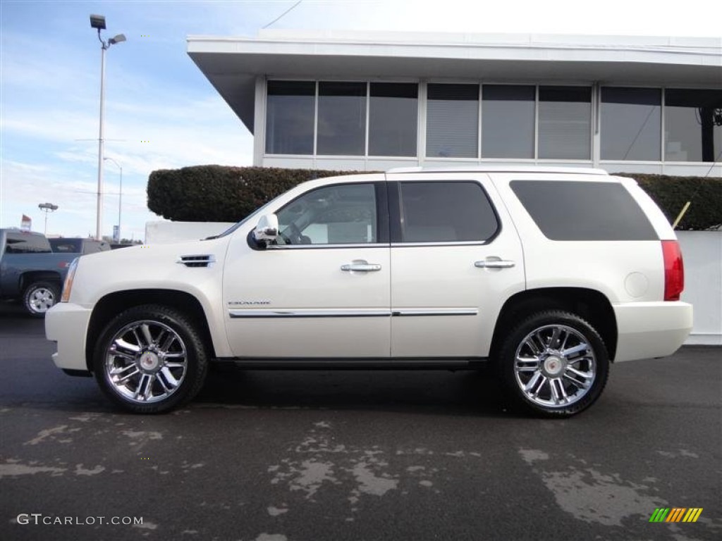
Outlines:
{"label": "trimmed hedge section at right, behind the SUV's rear window", "polygon": [[668,175],[645,175],[641,173],[614,173],[620,177],[637,180],[645,192],[673,223],[684,207],[690,208],[677,225],[677,229],[718,229],[722,226],[722,178],[720,177],[670,177]]}

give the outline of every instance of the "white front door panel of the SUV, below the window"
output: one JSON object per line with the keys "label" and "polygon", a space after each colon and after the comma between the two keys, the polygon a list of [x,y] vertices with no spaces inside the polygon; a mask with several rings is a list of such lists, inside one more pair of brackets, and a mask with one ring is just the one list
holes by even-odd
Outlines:
{"label": "white front door panel of the SUV, below the window", "polygon": [[[388,247],[238,248],[223,295],[235,356],[388,357]],[[342,271],[355,260],[380,270]]]}

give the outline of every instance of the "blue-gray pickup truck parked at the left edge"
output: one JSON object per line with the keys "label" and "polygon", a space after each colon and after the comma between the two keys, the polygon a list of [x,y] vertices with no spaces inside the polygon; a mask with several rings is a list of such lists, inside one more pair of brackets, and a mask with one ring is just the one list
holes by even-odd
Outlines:
{"label": "blue-gray pickup truck parked at the left edge", "polygon": [[20,300],[28,314],[45,317],[60,300],[65,275],[77,257],[53,253],[43,234],[0,229],[0,298]]}

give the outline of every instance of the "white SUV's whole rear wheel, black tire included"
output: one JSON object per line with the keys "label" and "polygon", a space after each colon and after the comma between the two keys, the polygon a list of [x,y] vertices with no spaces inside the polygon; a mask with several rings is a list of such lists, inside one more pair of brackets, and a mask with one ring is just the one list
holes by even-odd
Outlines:
{"label": "white SUV's whole rear wheel, black tire included", "polygon": [[609,377],[604,340],[586,320],[563,310],[537,312],[521,322],[495,360],[512,405],[543,417],[586,410]]}

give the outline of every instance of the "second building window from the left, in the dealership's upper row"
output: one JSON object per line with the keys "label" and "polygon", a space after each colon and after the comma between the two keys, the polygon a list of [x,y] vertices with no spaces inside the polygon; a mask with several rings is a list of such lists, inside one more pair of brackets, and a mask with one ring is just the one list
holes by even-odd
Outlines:
{"label": "second building window from the left, in the dealership's upper row", "polygon": [[318,83],[316,154],[363,156],[366,83]]}

